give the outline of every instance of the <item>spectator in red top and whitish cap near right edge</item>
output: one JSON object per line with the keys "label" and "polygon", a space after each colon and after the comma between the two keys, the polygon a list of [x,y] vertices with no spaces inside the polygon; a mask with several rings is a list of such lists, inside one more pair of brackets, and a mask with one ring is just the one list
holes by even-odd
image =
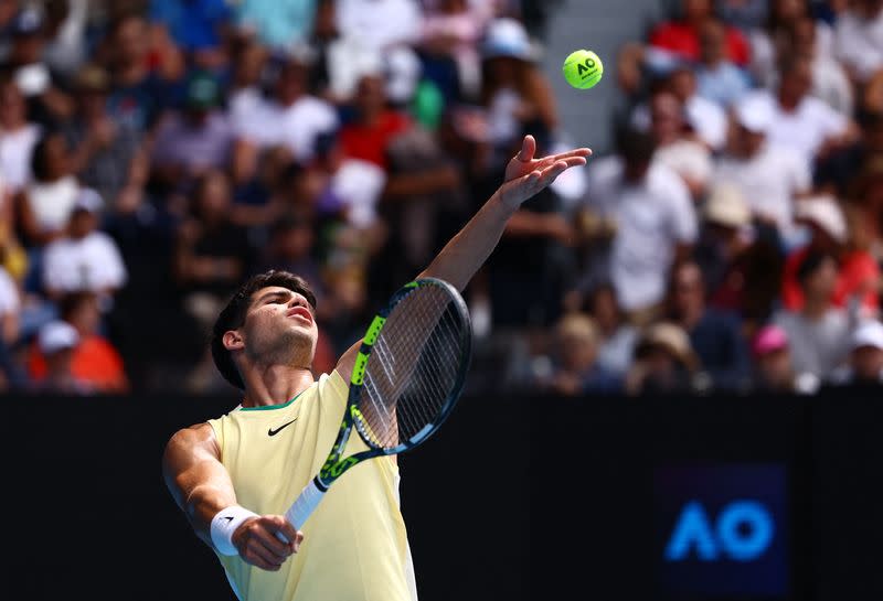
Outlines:
{"label": "spectator in red top and whitish cap near right edge", "polygon": [[880,307],[880,266],[865,249],[855,247],[850,238],[847,219],[833,196],[817,195],[800,201],[797,218],[810,230],[809,243],[792,251],[785,264],[781,282],[784,307],[799,310],[804,304],[797,270],[813,250],[830,253],[838,259],[837,285],[831,301],[844,309],[851,300],[859,303],[864,316],[872,316]]}

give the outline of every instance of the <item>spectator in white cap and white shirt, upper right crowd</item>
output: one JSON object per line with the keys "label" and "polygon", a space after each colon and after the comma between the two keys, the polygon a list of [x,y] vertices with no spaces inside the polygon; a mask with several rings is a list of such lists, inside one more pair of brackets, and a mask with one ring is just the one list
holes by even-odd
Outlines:
{"label": "spectator in white cap and white shirt, upper right crowd", "polygon": [[811,173],[800,154],[769,143],[774,118],[765,98],[752,94],[740,100],[732,111],[732,138],[712,179],[737,187],[752,214],[775,224],[789,245],[796,236],[795,203],[809,193]]}

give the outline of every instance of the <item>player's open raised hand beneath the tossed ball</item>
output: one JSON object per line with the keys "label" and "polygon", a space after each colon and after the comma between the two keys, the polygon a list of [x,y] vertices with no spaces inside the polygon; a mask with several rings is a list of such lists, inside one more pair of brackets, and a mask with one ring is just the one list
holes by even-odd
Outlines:
{"label": "player's open raised hand beneath the tossed ball", "polygon": [[521,150],[506,167],[506,181],[500,186],[500,196],[510,208],[518,208],[521,203],[550,185],[555,178],[572,167],[586,164],[592,155],[588,148],[577,148],[534,159],[536,140],[533,136],[524,136]]}

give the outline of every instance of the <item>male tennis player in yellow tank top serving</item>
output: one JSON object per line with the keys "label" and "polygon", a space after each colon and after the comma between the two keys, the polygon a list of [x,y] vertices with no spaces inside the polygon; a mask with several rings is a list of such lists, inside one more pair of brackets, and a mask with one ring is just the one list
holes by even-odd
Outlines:
{"label": "male tennis player in yellow tank top serving", "polygon": [[[591,154],[579,148],[535,159],[535,151],[526,136],[504,183],[419,277],[462,290],[521,203]],[[240,599],[414,600],[393,457],[353,468],[302,529],[283,515],[334,442],[359,350],[353,345],[316,382],[315,309],[306,282],[288,272],[255,276],[233,297],[215,323],[212,354],[223,376],[244,391],[242,405],[169,440],[167,485]],[[363,442],[351,437],[348,444]],[[348,447],[348,454],[354,450],[363,448]]]}

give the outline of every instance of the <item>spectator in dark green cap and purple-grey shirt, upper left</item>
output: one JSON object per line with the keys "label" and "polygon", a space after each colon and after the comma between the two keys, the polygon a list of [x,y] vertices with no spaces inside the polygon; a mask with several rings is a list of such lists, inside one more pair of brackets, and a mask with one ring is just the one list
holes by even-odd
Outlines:
{"label": "spectator in dark green cap and purple-grey shirt, upper left", "polygon": [[217,79],[196,71],[184,87],[183,106],[162,120],[152,147],[152,178],[170,191],[187,191],[201,174],[226,168],[233,144]]}

